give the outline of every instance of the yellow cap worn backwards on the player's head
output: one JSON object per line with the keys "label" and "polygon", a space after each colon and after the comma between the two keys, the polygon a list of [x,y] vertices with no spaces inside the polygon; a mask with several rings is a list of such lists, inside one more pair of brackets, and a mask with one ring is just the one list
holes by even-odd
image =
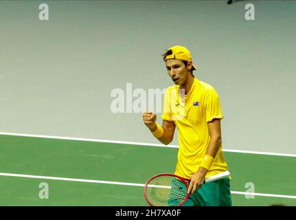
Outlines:
{"label": "yellow cap worn backwards on the player's head", "polygon": [[[166,50],[166,54],[163,57],[164,61],[168,61],[169,59],[177,59],[181,61],[192,61],[190,51],[187,50],[186,47],[183,46],[173,46]],[[192,70],[197,69],[196,66],[192,63]]]}

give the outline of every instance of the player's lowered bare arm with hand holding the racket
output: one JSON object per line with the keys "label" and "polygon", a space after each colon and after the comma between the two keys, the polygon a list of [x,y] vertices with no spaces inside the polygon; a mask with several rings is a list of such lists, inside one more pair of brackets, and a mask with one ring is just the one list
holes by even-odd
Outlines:
{"label": "player's lowered bare arm with hand holding the racket", "polygon": [[[207,128],[209,129],[209,135],[211,136],[211,140],[209,141],[209,145],[207,146],[207,151],[205,155],[209,155],[212,158],[216,156],[218,148],[222,143],[221,139],[221,126],[220,119],[214,119],[212,122],[207,123]],[[208,158],[211,160],[211,158]],[[205,165],[207,162],[205,162]],[[201,188],[205,181],[205,175],[207,174],[208,169],[203,166],[203,163],[198,168],[198,171],[192,175],[190,178],[190,186],[188,188],[188,192],[195,192],[198,188]]]}

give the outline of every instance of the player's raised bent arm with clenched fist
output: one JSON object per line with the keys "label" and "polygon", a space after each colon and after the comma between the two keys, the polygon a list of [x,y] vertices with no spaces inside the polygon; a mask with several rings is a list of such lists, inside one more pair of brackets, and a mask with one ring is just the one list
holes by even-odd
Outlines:
{"label": "player's raised bent arm with clenched fist", "polygon": [[[157,115],[155,113],[150,111],[143,113],[144,124],[148,127],[148,129],[150,129],[152,134],[155,135],[161,143],[166,145],[170,144],[174,137],[174,129],[176,128],[176,125],[174,122],[163,120],[162,126],[160,127],[156,123],[156,119]],[[162,131],[159,131],[161,129]]]}

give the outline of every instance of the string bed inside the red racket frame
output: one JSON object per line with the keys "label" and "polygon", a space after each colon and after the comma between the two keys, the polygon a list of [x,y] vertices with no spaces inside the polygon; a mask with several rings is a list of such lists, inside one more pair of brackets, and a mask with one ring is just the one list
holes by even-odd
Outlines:
{"label": "string bed inside the red racket frame", "polygon": [[187,196],[187,187],[175,177],[159,176],[148,183],[146,196],[153,206],[178,206]]}

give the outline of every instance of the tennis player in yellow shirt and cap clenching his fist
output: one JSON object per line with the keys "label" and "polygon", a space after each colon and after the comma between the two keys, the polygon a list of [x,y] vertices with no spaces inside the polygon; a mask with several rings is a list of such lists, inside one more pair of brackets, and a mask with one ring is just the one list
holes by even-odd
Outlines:
{"label": "tennis player in yellow shirt and cap clenching his fist", "polygon": [[230,176],[204,183],[205,178],[228,170],[222,152],[219,96],[211,85],[193,75],[196,66],[190,51],[170,47],[163,54],[174,85],[166,89],[162,126],[157,115],[143,114],[144,124],[163,144],[170,144],[177,126],[179,151],[175,175],[190,179],[191,195],[183,206],[231,206]]}

